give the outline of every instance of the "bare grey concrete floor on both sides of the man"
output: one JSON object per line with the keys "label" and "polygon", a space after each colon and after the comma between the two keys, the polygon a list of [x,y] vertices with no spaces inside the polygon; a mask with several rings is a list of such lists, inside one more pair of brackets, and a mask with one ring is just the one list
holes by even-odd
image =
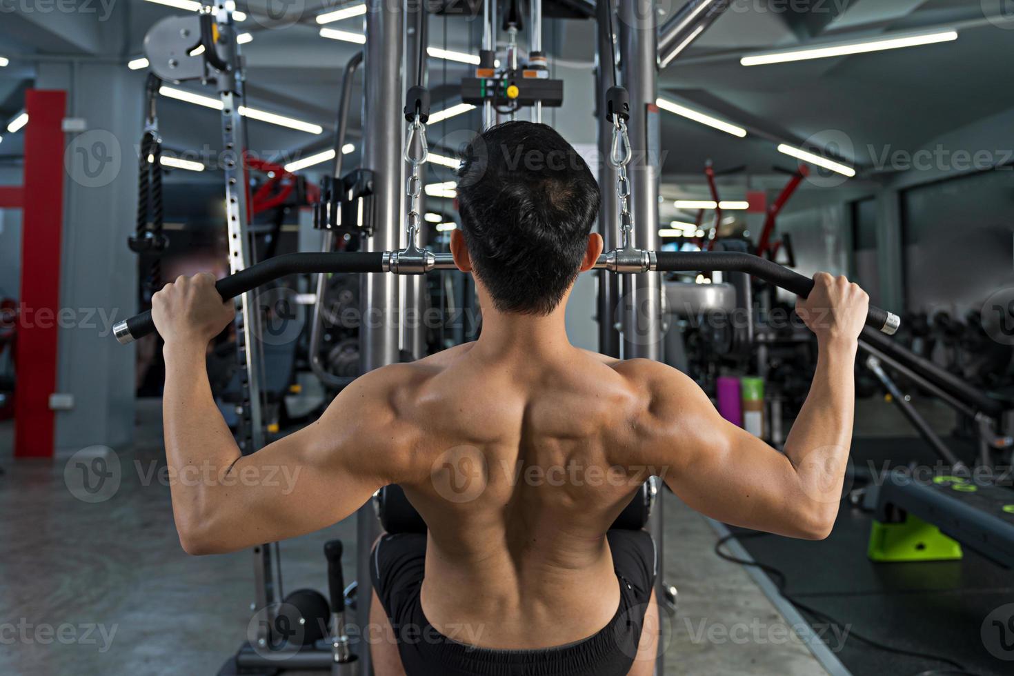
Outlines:
{"label": "bare grey concrete floor on both sides of the man", "polygon": [[[192,557],[179,548],[169,490],[145,480],[164,464],[157,401],[138,411],[138,443],[118,453],[122,481],[87,504],[64,480],[67,457],[11,458],[0,424],[0,674],[215,674],[250,619],[252,554]],[[825,674],[787,637],[788,623],[745,572],[715,556],[715,533],[665,497],[665,580],[679,612],[664,628],[666,674]],[[282,543],[285,589],[325,587],[321,547],[353,520]]]}

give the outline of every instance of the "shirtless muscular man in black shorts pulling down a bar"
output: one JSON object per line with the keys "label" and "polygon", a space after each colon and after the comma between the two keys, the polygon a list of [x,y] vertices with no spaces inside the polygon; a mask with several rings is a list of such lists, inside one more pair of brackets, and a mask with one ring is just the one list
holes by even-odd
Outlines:
{"label": "shirtless muscular man in black shorts pulling down a bar", "polygon": [[458,199],[451,251],[475,276],[482,336],[362,376],[315,424],[252,455],[240,455],[205,373],[205,348],[232,303],[210,276],[155,294],[171,469],[296,477],[174,481],[180,543],[208,554],[294,537],[400,483],[429,534],[375,545],[372,621],[389,621],[399,639],[372,645],[377,674],[650,674],[657,635],[642,627],[657,626],[653,545],[609,525],[654,473],[719,521],[825,537],[867,296],[820,274],[799,301],[819,357],[780,453],[723,420],[682,373],[568,343],[567,298],[602,240],[590,232],[595,180],[559,134],[526,122],[487,131],[462,165]]}

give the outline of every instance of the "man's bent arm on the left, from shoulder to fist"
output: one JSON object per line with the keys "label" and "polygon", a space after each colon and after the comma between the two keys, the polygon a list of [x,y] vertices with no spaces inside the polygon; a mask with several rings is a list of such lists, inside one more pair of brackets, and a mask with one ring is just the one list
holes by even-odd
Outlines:
{"label": "man's bent arm on the left, from shoulder to fist", "polygon": [[152,306],[165,341],[172,512],[188,552],[233,551],[323,528],[392,480],[406,437],[396,434],[387,375],[357,379],[316,423],[243,456],[205,365],[209,341],[232,318],[231,301],[222,303],[211,276],[197,276],[166,285]]}

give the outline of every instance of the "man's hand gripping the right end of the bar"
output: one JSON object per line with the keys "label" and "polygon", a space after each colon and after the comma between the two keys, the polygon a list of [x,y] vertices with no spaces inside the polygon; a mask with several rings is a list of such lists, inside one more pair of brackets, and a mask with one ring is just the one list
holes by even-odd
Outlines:
{"label": "man's hand gripping the right end of the bar", "polygon": [[855,343],[866,323],[870,297],[845,276],[813,276],[813,291],[796,301],[796,313],[820,343],[845,340]]}

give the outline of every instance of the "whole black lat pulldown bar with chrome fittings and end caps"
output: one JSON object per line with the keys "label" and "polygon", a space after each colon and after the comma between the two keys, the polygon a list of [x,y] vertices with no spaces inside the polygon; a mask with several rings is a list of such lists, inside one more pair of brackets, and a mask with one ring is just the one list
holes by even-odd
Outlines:
{"label": "whole black lat pulldown bar with chrome fittings and end caps", "polygon": [[[425,249],[410,251],[336,251],[333,253],[286,253],[250,266],[215,283],[224,300],[277,280],[286,275],[308,273],[393,273],[419,275],[432,270],[456,270],[449,253]],[[805,298],[813,280],[776,262],[737,251],[643,251],[613,249],[598,256],[595,270],[635,274],[647,272],[721,271],[748,273],[777,287]],[[870,306],[866,325],[891,335],[900,325],[896,314]],[[151,310],[117,322],[113,333],[123,345],[155,332]]]}

